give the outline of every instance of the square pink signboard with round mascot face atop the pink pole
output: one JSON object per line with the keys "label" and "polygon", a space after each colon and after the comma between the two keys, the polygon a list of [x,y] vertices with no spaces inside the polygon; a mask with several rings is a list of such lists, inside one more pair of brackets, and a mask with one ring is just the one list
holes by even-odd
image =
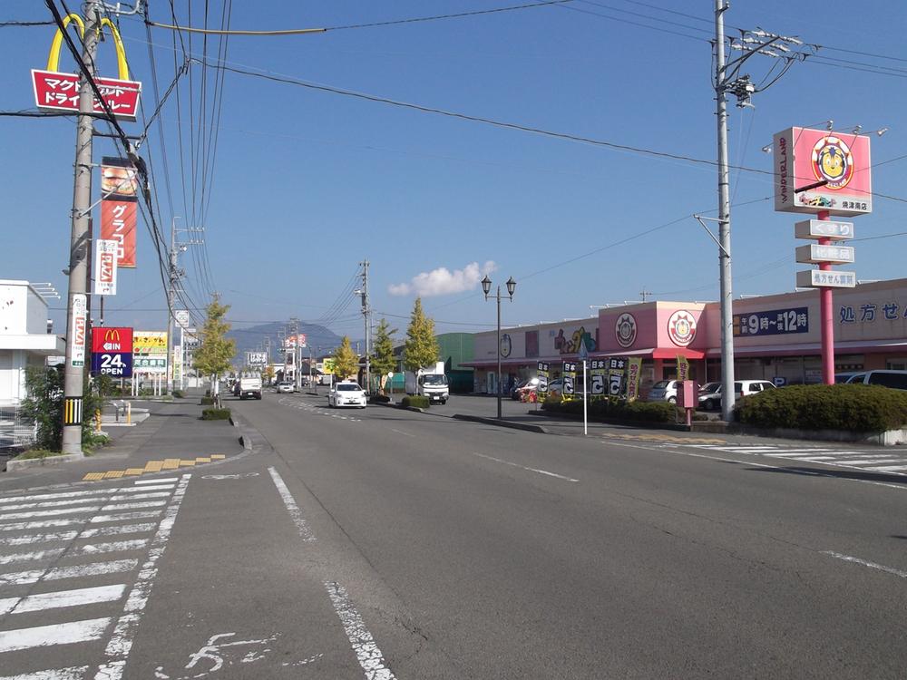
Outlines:
{"label": "square pink signboard with round mascot face atop the pink pole", "polygon": [[775,210],[862,215],[873,211],[869,137],[788,128],[775,134]]}

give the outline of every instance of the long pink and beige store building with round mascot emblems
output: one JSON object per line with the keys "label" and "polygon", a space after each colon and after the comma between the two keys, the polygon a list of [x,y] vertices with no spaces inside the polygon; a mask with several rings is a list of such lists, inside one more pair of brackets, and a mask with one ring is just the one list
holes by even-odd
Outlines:
{"label": "long pink and beige store building with round mascot emblems", "polygon": [[[834,293],[835,371],[907,369],[907,278],[861,284]],[[734,355],[737,379],[777,384],[822,381],[819,293],[798,291],[735,300]],[[599,316],[560,324],[502,329],[504,385],[534,375],[539,361],[576,360],[580,344],[590,358],[642,359],[640,393],[677,375],[685,357],[698,383],[721,374],[721,316],[717,302],[646,302],[601,309]],[[475,336],[474,389],[496,390],[497,335]]]}

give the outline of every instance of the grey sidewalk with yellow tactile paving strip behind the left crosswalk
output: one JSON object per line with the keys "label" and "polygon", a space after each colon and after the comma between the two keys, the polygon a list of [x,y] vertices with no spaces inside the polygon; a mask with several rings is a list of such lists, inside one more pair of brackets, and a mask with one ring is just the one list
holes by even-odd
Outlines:
{"label": "grey sidewalk with yellow tactile paving strip behind the left crosswalk", "polygon": [[147,419],[133,427],[107,429],[112,436],[108,446],[77,461],[0,473],[0,491],[172,473],[229,460],[246,451],[239,441],[239,428],[229,421],[200,420],[197,397],[132,404],[148,409]]}

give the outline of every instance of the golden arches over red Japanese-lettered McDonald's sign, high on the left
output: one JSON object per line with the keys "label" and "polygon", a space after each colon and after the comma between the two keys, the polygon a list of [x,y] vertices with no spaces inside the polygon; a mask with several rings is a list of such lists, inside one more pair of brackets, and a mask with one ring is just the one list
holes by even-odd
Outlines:
{"label": "golden arches over red Japanese-lettered McDonald's sign, high on the left", "polygon": [[[65,16],[63,18],[63,28],[66,28],[71,21],[78,26],[79,35],[84,37],[85,24],[82,17],[79,15]],[[98,85],[98,90],[101,91],[104,102],[107,102],[107,106],[110,107],[114,117],[122,118],[126,121],[135,121],[135,116],[139,109],[141,83],[129,80],[129,66],[126,63],[126,51],[122,46],[120,32],[111,20],[106,17],[101,20],[101,31],[104,30],[104,26],[110,29],[113,36],[120,77],[119,79],[96,78],[95,82]],[[62,46],[63,31],[58,28],[56,34],[54,34],[54,41],[51,43],[46,70],[32,69],[34,103],[39,109],[78,112],[79,74],[61,73],[57,70],[60,63],[60,48]],[[104,111],[101,102],[95,100],[94,111],[98,113]]]}

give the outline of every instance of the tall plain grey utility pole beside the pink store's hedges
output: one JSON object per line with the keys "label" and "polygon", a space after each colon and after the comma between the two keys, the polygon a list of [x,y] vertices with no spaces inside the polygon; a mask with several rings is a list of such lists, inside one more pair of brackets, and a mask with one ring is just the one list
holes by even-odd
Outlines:
{"label": "tall plain grey utility pole beside the pink store's hedges", "polygon": [[718,262],[721,303],[721,417],[734,413],[734,313],[731,287],[731,201],[727,178],[725,0],[715,0],[715,94],[718,124]]}

